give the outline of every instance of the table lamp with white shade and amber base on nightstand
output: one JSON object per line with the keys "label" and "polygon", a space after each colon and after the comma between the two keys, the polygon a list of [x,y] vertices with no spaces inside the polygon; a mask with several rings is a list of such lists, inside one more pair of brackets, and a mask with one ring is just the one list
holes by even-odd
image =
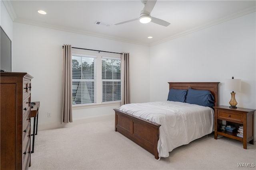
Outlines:
{"label": "table lamp with white shade and amber base on nightstand", "polygon": [[226,85],[225,85],[225,90],[228,91],[232,91],[231,94],[231,100],[229,102],[230,104],[230,108],[237,108],[237,102],[236,102],[236,98],[235,92],[240,92],[241,91],[241,79],[234,79],[234,77],[232,77],[232,79],[227,79],[226,80]]}

